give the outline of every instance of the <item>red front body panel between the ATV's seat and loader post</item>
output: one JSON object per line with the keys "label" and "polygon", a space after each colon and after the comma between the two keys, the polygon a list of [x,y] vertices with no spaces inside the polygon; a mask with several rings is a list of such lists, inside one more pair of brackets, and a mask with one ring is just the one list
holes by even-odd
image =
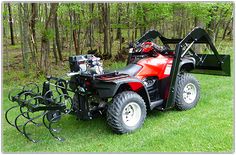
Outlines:
{"label": "red front body panel between the ATV's seat and loader post", "polygon": [[146,77],[156,76],[159,80],[170,76],[173,57],[158,54],[157,57],[149,57],[137,62],[142,69],[135,75],[142,80]]}

